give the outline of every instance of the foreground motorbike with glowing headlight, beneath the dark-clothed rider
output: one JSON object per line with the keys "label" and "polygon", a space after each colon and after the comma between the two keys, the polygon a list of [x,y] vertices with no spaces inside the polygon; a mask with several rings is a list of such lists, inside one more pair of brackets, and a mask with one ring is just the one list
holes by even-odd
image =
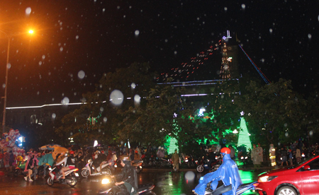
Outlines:
{"label": "foreground motorbike with glowing headlight, beneath the dark-clothed rider", "polygon": [[[102,179],[103,187],[99,189],[99,194],[128,194],[128,192],[121,187],[115,185],[114,179],[111,177],[106,177]],[[156,195],[152,189],[154,189],[155,185],[152,183],[142,184],[138,186],[138,194],[152,194]]]}

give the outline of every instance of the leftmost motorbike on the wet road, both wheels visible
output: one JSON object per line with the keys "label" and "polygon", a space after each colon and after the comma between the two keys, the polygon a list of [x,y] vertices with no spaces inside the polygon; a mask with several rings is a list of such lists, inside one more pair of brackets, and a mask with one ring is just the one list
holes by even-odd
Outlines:
{"label": "leftmost motorbike on the wet road, both wheels visible", "polygon": [[[55,182],[62,182],[60,179],[63,175],[60,174],[60,166],[55,166],[53,168],[49,168],[49,177],[47,177],[47,185],[52,186]],[[74,187],[77,184],[77,177],[79,174],[77,173],[79,169],[74,168],[71,170],[65,171],[65,182],[69,184],[70,187]]]}

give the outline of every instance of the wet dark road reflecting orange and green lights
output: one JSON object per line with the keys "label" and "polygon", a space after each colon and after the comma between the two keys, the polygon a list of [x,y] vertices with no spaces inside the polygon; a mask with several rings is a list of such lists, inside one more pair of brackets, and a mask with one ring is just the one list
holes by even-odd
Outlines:
{"label": "wet dark road reflecting orange and green lights", "polygon": [[[198,184],[198,179],[204,173],[192,171],[171,172],[168,170],[143,170],[138,174],[139,184],[153,182],[157,195],[159,194],[192,194],[192,189]],[[253,182],[260,172],[240,170],[243,183]],[[45,179],[38,179],[34,182],[26,182],[23,176],[1,177],[0,194],[97,194],[101,188],[101,177],[90,177],[80,179],[77,185],[72,188],[67,184],[55,183],[52,187],[47,186]],[[253,192],[247,194],[256,194]]]}

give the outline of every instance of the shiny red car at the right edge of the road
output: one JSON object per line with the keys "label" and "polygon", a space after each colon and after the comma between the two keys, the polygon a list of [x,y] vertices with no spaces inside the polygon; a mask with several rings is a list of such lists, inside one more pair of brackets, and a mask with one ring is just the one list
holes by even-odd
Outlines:
{"label": "shiny red car at the right edge of the road", "polygon": [[319,194],[319,155],[295,167],[272,170],[258,176],[257,191],[270,194]]}

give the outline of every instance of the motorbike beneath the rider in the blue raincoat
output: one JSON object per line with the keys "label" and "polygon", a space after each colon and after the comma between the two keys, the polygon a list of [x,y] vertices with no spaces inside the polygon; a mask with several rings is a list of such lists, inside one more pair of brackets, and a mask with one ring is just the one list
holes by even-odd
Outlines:
{"label": "motorbike beneath the rider in the blue raincoat", "polygon": [[[201,179],[202,179],[202,177],[201,177]],[[213,182],[213,181],[211,181],[211,182]],[[226,191],[232,190],[232,185],[225,187],[223,190],[219,190],[218,188],[213,190],[213,189],[211,189],[211,182],[208,182],[208,184],[206,185],[205,195],[219,195],[219,194],[225,193]],[[248,191],[248,190],[254,190],[255,187],[257,187],[257,185],[258,185],[258,182],[241,184],[240,187],[237,188],[236,195],[244,194],[245,191]],[[196,194],[196,193],[194,192],[194,194]]]}

